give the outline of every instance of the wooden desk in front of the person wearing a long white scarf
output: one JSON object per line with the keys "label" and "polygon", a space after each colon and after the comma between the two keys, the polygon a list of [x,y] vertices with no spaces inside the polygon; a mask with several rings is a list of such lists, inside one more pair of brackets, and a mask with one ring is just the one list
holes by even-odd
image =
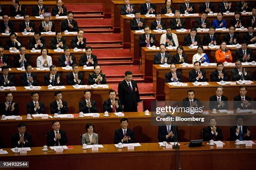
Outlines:
{"label": "wooden desk in front of the person wearing a long white scarf", "polygon": [[[233,62],[235,62],[235,60],[236,60],[235,54],[236,54],[237,49],[238,48],[235,48],[235,47],[232,47],[232,48],[228,47],[228,50],[230,50],[232,53]],[[255,53],[256,48],[253,47],[252,49],[253,49],[253,52]],[[215,60],[216,50],[218,50],[218,49],[210,49],[209,47],[204,50],[204,53],[207,54],[208,58],[210,58],[210,61],[215,62],[215,63],[217,62]],[[154,55],[157,52],[159,52],[159,50],[150,50],[150,49],[148,49],[148,47],[141,48],[141,60],[142,60],[141,61],[142,62],[141,73],[145,76],[146,79],[149,78],[151,80],[150,76],[152,76],[152,65],[154,64]],[[175,49],[173,49],[173,50],[166,50],[166,52],[168,52],[171,55],[171,61],[173,63],[172,55],[175,55],[177,53],[177,51]],[[197,53],[197,49],[196,48],[190,49],[189,47],[185,46],[184,52],[187,55],[188,63],[192,64],[192,57],[193,57],[193,55],[195,55]]]}

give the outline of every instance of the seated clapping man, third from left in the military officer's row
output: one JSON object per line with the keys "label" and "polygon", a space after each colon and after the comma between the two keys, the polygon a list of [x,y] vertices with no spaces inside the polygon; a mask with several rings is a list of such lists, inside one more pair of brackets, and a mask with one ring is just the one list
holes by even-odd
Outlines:
{"label": "seated clapping man, third from left in the military officer's row", "polygon": [[44,76],[44,85],[62,85],[61,74],[57,73],[57,68],[55,65],[50,66],[50,73]]}

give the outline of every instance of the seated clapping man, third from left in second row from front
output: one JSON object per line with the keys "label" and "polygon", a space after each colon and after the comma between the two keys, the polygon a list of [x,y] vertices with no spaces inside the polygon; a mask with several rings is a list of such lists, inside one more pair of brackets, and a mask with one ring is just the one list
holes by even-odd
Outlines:
{"label": "seated clapping man, third from left in second row from front", "polygon": [[67,102],[65,100],[62,100],[62,92],[61,91],[54,92],[54,97],[56,100],[50,103],[51,114],[52,115],[54,115],[54,113],[67,114],[69,109],[67,107]]}

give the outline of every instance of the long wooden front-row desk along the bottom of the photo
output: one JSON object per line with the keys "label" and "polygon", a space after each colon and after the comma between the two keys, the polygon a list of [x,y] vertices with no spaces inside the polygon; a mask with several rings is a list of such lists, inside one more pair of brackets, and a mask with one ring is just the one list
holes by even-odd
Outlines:
{"label": "long wooden front-row desk along the bottom of the photo", "polygon": [[[186,145],[187,143],[180,143],[182,170],[223,170],[223,168],[233,170],[246,168],[251,170],[255,167],[255,145],[246,147],[245,145],[234,145],[235,142],[233,141],[224,141],[224,143],[223,148],[209,146],[206,142],[201,147],[196,148],[189,148]],[[113,144],[103,146],[104,148],[99,148],[98,151],[93,152],[92,149],[82,150],[81,145],[75,145],[73,146],[74,149],[64,150],[63,153],[56,153],[52,150],[44,152],[42,151],[43,147],[35,147],[31,148],[31,151],[28,151],[25,155],[13,153],[10,148],[6,148],[4,150],[7,150],[8,154],[0,155],[0,160],[26,160],[29,161],[29,168],[38,170],[53,168],[51,165],[58,161],[61,161],[61,163],[57,167],[54,165],[56,170],[82,170],[84,167],[103,170],[106,163],[112,170],[120,170],[120,168],[124,170],[130,170],[131,168],[155,170],[159,167],[164,170],[174,170],[176,166],[175,149],[159,147],[158,143],[141,143],[141,146],[135,147],[134,150],[119,149]],[[109,158],[114,161],[109,161]],[[123,164],[129,166],[123,166]]]}

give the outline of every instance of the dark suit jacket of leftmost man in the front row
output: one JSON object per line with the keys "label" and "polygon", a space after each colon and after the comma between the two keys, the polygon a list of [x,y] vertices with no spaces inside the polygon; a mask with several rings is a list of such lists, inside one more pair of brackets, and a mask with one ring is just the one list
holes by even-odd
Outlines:
{"label": "dark suit jacket of leftmost man in the front row", "polygon": [[[25,132],[23,136],[24,136],[24,141],[26,141],[25,144],[24,144],[24,148],[32,147],[33,142],[32,142],[31,134]],[[15,147],[21,148],[21,144],[20,145],[18,144],[19,140],[20,140],[20,134],[18,132],[14,133],[12,135],[12,139],[11,139],[11,147],[12,148],[15,148]]]}

